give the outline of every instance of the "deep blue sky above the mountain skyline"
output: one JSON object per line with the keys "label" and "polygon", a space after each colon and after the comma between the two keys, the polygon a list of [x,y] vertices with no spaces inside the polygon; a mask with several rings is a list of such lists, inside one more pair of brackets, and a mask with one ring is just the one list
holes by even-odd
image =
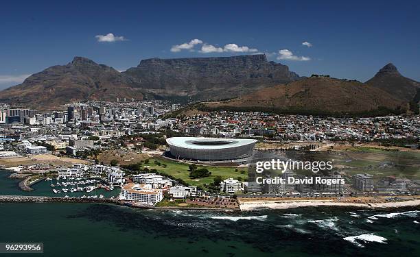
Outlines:
{"label": "deep blue sky above the mountain skyline", "polygon": [[0,88],[73,56],[121,71],[152,57],[251,53],[299,75],[362,81],[393,62],[420,81],[419,1],[60,2],[1,3]]}

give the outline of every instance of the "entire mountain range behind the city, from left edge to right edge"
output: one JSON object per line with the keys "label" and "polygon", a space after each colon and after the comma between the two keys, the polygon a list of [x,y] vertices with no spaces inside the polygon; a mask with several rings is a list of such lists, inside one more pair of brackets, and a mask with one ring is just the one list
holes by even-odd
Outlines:
{"label": "entire mountain range behind the city, from left edge to right edge", "polygon": [[[420,84],[387,64],[367,82],[327,76],[299,77],[265,55],[218,58],[152,58],[120,73],[75,57],[0,91],[0,102],[38,109],[86,100],[196,100],[201,108],[276,112],[360,113],[408,109]],[[229,99],[229,100],[226,100]]]}

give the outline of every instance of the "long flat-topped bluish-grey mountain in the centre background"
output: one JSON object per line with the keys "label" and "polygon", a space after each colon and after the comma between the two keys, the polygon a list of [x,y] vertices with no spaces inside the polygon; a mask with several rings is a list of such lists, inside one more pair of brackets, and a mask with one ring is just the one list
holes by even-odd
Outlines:
{"label": "long flat-topped bluish-grey mountain in the centre background", "polygon": [[161,96],[194,99],[237,97],[299,79],[288,66],[264,54],[213,58],[152,58],[125,72],[140,88]]}

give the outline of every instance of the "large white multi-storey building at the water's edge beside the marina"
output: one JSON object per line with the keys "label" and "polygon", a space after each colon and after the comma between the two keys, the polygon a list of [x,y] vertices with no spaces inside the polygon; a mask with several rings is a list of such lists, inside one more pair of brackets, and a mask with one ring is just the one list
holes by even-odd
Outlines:
{"label": "large white multi-storey building at the water's edge beside the marina", "polygon": [[139,201],[141,204],[154,206],[163,199],[162,189],[152,189],[151,185],[128,183],[121,189],[119,199]]}

